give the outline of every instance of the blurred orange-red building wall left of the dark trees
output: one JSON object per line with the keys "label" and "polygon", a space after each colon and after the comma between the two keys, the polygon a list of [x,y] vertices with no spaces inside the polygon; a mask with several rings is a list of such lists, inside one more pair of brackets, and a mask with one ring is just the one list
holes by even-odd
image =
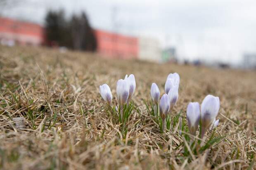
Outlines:
{"label": "blurred orange-red building wall left of the dark trees", "polygon": [[43,32],[43,27],[38,24],[0,18],[0,41],[40,45],[44,40]]}

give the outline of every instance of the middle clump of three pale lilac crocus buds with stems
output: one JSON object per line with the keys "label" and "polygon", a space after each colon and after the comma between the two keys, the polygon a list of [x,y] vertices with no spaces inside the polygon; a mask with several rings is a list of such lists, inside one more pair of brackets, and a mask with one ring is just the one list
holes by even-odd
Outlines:
{"label": "middle clump of three pale lilac crocus buds with stems", "polygon": [[[160,99],[159,88],[155,83],[152,83],[150,94],[154,104],[154,114],[157,115],[157,113],[155,113],[156,112],[155,108],[158,106],[158,103],[159,103],[160,116],[163,121],[163,128],[162,128],[163,130],[165,128],[165,124],[166,124],[165,119],[168,112],[171,113],[171,110],[173,109],[173,107],[176,105],[178,101],[179,85],[180,85],[180,76],[178,75],[178,73],[175,72],[175,73],[169,74],[166,79],[166,83],[164,87],[165,94]],[[160,102],[159,102],[159,99],[160,99]]]}

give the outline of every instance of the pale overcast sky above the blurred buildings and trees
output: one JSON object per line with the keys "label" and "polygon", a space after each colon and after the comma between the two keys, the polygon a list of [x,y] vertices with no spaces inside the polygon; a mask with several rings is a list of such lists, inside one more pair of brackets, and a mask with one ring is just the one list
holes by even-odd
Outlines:
{"label": "pale overcast sky above the blurred buildings and trees", "polygon": [[237,64],[256,52],[256,0],[24,0],[2,14],[43,24],[60,8],[85,11],[94,28],[155,37],[180,58]]}

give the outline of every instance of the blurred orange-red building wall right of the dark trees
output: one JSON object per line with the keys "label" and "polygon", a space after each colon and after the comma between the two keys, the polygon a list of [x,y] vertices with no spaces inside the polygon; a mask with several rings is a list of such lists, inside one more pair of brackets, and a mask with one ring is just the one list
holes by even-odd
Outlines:
{"label": "blurred orange-red building wall right of the dark trees", "polygon": [[137,58],[138,40],[136,37],[95,30],[97,52],[106,58]]}

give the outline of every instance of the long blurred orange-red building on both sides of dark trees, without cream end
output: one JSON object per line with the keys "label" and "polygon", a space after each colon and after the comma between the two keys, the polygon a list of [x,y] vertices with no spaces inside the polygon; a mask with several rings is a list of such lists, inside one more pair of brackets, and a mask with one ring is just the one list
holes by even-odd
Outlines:
{"label": "long blurred orange-red building on both sides of dark trees, without cream end", "polygon": [[[95,30],[97,52],[105,58],[130,59],[138,56],[138,39],[103,30]],[[45,42],[44,28],[8,18],[0,18],[0,42],[14,44],[42,45]],[[3,43],[2,43],[3,44]],[[9,44],[9,43],[5,43]]]}

